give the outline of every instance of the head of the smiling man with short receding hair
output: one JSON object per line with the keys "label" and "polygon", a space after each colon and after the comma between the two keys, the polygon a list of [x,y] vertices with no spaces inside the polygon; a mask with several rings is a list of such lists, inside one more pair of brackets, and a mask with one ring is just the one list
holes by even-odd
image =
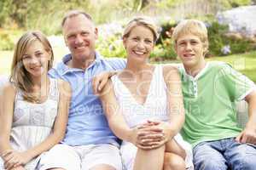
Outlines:
{"label": "head of the smiling man with short receding hair", "polygon": [[63,35],[73,59],[94,59],[97,29],[83,14],[67,18]]}

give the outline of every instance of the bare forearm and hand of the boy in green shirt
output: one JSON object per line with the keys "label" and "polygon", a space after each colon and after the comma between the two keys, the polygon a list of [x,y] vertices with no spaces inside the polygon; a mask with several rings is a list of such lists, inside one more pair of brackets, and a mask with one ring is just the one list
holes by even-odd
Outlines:
{"label": "bare forearm and hand of the boy in green shirt", "polygon": [[236,137],[241,143],[256,144],[256,90],[245,98],[248,103],[248,122],[244,130]]}

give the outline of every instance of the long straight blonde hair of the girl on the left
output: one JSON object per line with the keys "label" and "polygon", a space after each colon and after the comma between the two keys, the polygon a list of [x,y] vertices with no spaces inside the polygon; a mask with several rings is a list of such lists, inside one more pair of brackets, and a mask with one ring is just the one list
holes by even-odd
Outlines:
{"label": "long straight blonde hair of the girl on the left", "polygon": [[16,88],[20,89],[24,99],[28,101],[34,101],[32,97],[32,77],[26,71],[22,56],[26,54],[27,48],[35,41],[41,42],[51,56],[48,62],[47,71],[53,65],[54,54],[48,39],[44,36],[41,31],[27,31],[23,36],[20,37],[19,41],[15,46],[14,58],[11,66],[11,76],[9,81],[12,82]]}

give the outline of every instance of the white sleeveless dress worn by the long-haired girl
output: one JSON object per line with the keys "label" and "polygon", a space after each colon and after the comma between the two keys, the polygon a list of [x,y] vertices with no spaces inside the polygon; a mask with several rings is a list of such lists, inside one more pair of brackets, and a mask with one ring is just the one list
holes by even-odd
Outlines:
{"label": "white sleeveless dress worn by the long-haired girl", "polygon": [[[14,150],[28,150],[42,143],[49,136],[57,115],[58,103],[59,90],[56,79],[50,79],[48,99],[42,104],[27,102],[20,91],[17,92],[10,132],[10,144]],[[25,168],[37,169],[39,160],[40,156],[34,158],[26,164]],[[1,158],[0,169],[3,169]]]}

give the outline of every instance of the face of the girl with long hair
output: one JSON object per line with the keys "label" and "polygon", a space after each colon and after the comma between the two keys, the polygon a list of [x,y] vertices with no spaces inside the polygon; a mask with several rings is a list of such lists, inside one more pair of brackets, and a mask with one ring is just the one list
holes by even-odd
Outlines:
{"label": "face of the girl with long hair", "polygon": [[22,64],[32,77],[40,77],[48,71],[50,56],[44,45],[36,40],[26,48],[26,53],[22,56]]}

